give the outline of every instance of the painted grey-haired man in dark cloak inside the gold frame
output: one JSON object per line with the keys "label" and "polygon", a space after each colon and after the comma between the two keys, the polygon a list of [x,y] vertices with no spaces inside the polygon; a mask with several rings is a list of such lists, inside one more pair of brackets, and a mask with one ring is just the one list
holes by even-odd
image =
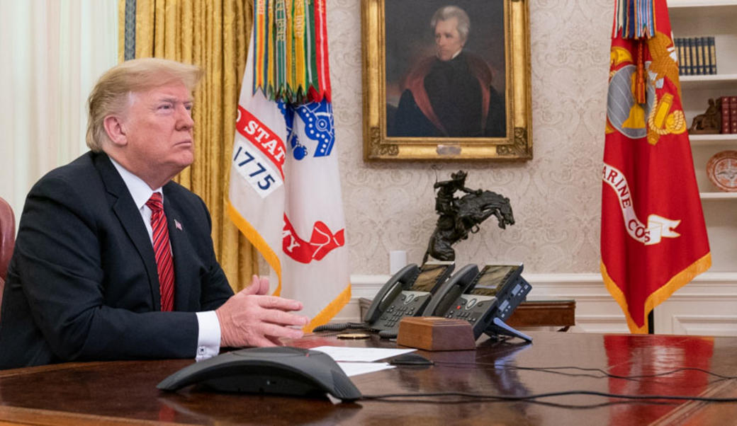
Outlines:
{"label": "painted grey-haired man in dark cloak inside the gold frame", "polygon": [[470,26],[460,7],[444,6],[433,14],[436,54],[416,63],[405,78],[389,136],[506,136],[504,99],[492,87],[492,70],[464,50]]}

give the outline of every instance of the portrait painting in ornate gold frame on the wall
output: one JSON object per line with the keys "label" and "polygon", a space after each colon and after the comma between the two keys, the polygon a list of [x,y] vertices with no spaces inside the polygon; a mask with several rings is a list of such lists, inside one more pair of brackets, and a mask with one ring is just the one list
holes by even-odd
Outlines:
{"label": "portrait painting in ornate gold frame on the wall", "polygon": [[528,0],[362,0],[366,160],[532,157]]}

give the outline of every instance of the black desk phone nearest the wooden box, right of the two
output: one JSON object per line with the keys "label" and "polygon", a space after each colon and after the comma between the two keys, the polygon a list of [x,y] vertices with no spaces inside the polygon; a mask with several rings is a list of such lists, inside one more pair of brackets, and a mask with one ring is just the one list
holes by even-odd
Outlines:
{"label": "black desk phone nearest the wooden box, right of the two", "polygon": [[[522,270],[521,263],[487,265],[481,272],[475,265],[465,266],[438,289],[422,316],[465,319],[472,324],[474,338],[487,333],[531,341],[528,336],[504,324],[532,288],[521,277]],[[462,294],[458,293],[459,290]]]}

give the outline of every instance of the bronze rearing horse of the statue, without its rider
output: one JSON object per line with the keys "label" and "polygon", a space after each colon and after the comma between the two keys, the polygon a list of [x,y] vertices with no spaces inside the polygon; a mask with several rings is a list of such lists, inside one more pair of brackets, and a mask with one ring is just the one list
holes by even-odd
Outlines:
{"label": "bronze rearing horse of the statue, without its rider", "polygon": [[422,263],[427,261],[428,256],[437,260],[455,260],[453,244],[468,238],[469,231],[474,234],[478,232],[478,225],[492,215],[497,217],[502,229],[513,225],[514,215],[509,198],[492,191],[473,191],[454,199],[452,207],[440,214]]}

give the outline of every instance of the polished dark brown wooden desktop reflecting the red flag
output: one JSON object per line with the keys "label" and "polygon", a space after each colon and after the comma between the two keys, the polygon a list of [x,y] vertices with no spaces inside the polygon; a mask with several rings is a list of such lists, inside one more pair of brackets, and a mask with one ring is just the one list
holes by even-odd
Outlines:
{"label": "polished dark brown wooden desktop reflecting the red flag", "polygon": [[[337,333],[309,335],[298,347],[322,345],[396,347],[392,341],[338,340]],[[737,338],[530,333],[533,344],[480,341],[475,351],[418,353],[430,367],[399,366],[352,377],[364,395],[464,391],[526,395],[565,390],[618,394],[681,394],[737,397],[737,380],[684,371],[646,380],[576,376],[508,367],[579,366],[621,375],[654,374],[698,367],[737,375]],[[4,348],[7,350],[7,348]],[[455,362],[448,363],[449,361]],[[175,393],[156,384],[191,360],[66,363],[0,371],[0,423],[120,425],[177,422],[225,425],[643,425],[652,422],[733,424],[737,404],[615,402],[573,395],[539,402],[483,402],[455,397],[413,397],[409,402],[328,400],[217,394],[190,386]],[[590,374],[595,374],[591,372]],[[564,408],[559,405],[587,405]],[[692,422],[692,423],[691,423]]]}

